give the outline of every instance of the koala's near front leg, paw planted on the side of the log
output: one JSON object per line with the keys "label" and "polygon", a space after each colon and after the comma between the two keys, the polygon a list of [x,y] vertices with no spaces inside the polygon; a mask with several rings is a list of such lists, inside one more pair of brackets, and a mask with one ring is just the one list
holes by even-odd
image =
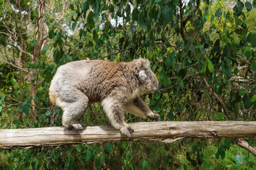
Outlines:
{"label": "koala's near front leg, paw planted on the side of the log", "polygon": [[131,137],[131,133],[134,132],[134,130],[124,121],[124,109],[122,102],[113,98],[105,98],[101,102],[101,105],[107,115],[107,118],[109,118],[111,125],[117,130],[120,130],[122,135]]}

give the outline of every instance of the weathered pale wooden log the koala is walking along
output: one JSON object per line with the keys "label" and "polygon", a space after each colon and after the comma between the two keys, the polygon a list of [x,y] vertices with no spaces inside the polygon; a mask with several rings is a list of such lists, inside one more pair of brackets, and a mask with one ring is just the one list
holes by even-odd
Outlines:
{"label": "weathered pale wooden log the koala is walking along", "polygon": [[256,137],[256,122],[144,122],[128,123],[134,129],[128,138],[110,125],[84,126],[82,131],[64,127],[0,130],[0,149],[31,149],[71,144],[95,144],[119,141],[161,140],[172,142],[183,138]]}

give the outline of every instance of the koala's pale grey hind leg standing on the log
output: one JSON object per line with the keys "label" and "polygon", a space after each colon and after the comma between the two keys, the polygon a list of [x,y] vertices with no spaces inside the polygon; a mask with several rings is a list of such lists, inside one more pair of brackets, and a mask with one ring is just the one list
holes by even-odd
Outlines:
{"label": "koala's pale grey hind leg standing on the log", "polygon": [[75,88],[61,89],[61,94],[57,100],[63,108],[62,124],[68,130],[82,130],[80,119],[87,108],[89,99],[82,91]]}

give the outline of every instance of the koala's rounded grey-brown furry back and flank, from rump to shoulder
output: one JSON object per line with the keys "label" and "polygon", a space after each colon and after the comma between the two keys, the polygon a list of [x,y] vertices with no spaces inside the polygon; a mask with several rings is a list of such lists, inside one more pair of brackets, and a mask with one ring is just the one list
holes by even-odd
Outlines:
{"label": "koala's rounded grey-brown furry back and flank, from rump to shoulder", "polygon": [[58,101],[75,101],[77,90],[82,91],[90,103],[100,101],[113,87],[123,83],[120,64],[125,63],[81,60],[59,67],[50,84],[50,101],[57,106]]}

